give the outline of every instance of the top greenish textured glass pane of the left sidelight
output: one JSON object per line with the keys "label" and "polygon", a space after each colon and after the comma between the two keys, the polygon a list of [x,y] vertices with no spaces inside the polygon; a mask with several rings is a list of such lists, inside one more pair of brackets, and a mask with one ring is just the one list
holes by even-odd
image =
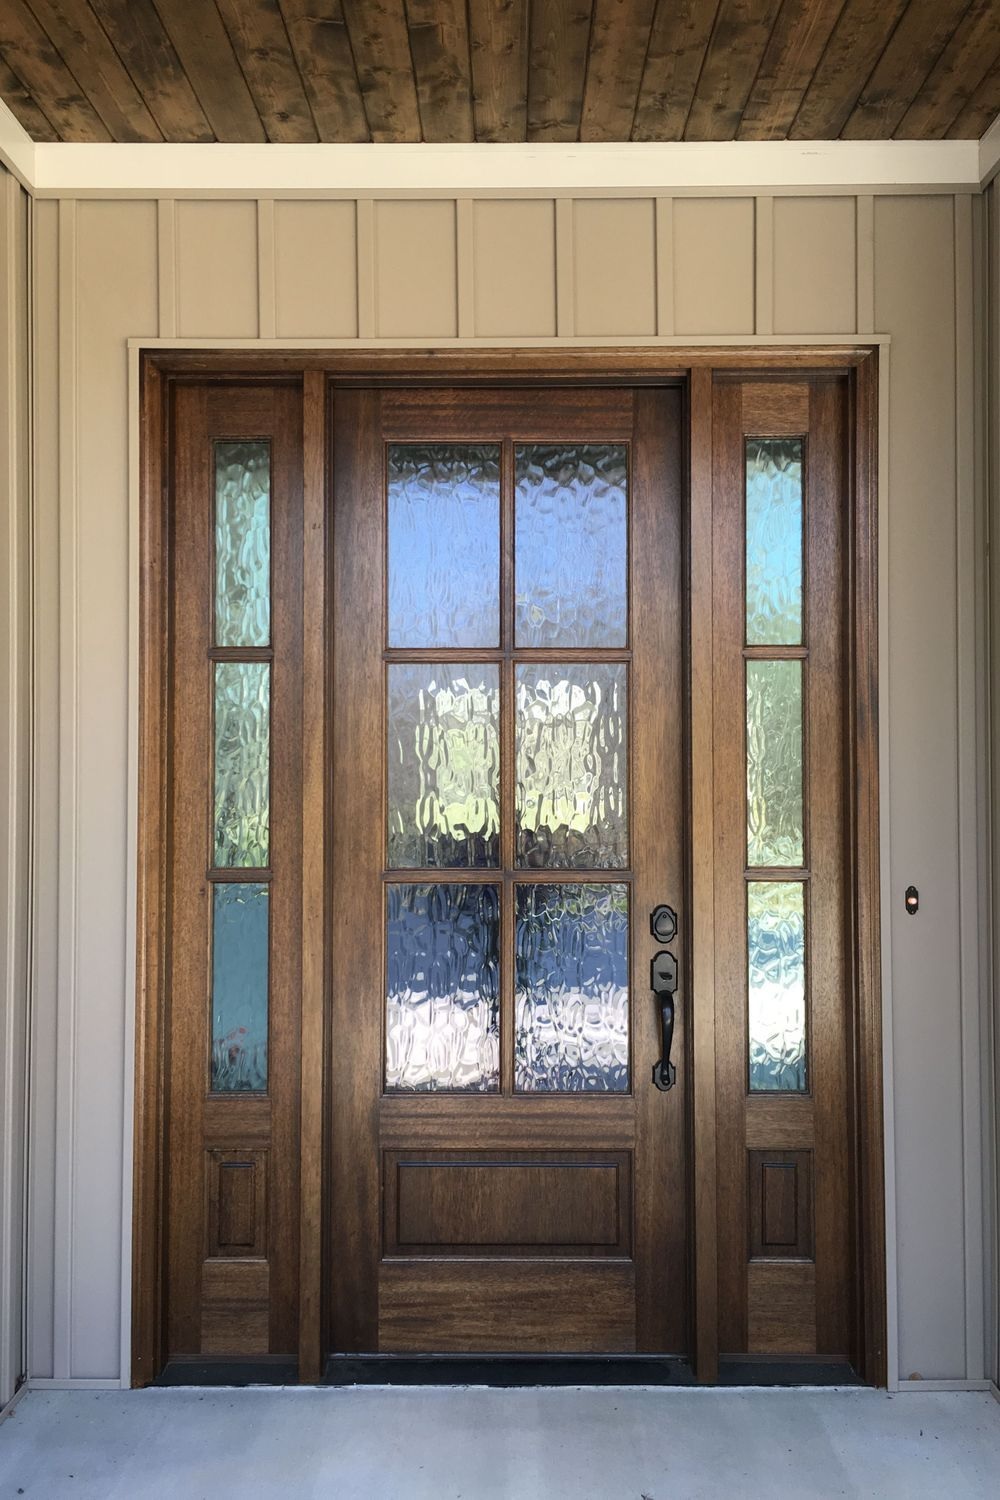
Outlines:
{"label": "top greenish textured glass pane of the left sidelight", "polygon": [[271,446],[216,442],[216,645],[271,636]]}

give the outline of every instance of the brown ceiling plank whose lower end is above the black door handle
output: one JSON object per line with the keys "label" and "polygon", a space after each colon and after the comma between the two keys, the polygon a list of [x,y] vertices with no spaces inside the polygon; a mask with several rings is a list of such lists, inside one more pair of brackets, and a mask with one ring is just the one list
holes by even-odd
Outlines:
{"label": "brown ceiling plank whose lower end is above the black door handle", "polygon": [[639,90],[634,141],[682,141],[718,0],[660,0]]}

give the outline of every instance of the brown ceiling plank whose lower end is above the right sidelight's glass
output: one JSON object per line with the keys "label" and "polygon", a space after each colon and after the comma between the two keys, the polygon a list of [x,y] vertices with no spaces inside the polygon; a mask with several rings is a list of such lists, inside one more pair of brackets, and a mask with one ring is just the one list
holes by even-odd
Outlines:
{"label": "brown ceiling plank whose lower end is above the right sidelight's glass", "polygon": [[741,141],[787,136],[841,9],[843,0],[784,0],[739,122]]}

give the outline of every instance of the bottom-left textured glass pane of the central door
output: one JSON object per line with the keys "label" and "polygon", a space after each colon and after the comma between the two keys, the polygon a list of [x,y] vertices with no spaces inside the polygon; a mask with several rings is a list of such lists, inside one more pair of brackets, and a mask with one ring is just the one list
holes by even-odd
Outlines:
{"label": "bottom-left textured glass pane of the central door", "polygon": [[387,888],[385,1088],[499,1089],[495,885]]}

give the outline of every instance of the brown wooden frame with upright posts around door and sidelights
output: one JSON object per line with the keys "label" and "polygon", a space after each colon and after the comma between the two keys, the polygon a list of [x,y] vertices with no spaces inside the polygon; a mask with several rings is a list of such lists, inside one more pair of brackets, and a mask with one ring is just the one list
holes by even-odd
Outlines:
{"label": "brown wooden frame with upright posts around door and sidelights", "polygon": [[[174,381],[297,380],[304,411],[303,632],[303,1072],[298,1377],[322,1374],[325,1152],[325,849],[328,806],[327,681],[327,396],[337,386],[394,384],[676,384],[688,393],[688,819],[691,830],[691,1356],[700,1382],[718,1377],[715,1191],[714,801],[712,774],[712,375],[714,370],[850,372],[850,516],[847,549],[849,954],[852,964],[850,1203],[852,1354],[870,1384],[885,1386],[886,1232],[879,866],[879,345],[748,348],[529,350],[144,350],[139,358],[139,676],[136,1023],[132,1226],[132,1383],[162,1368],[165,1095],[165,890],[169,654],[168,434]],[[705,608],[697,608],[703,602]],[[709,690],[702,690],[708,684]]]}

